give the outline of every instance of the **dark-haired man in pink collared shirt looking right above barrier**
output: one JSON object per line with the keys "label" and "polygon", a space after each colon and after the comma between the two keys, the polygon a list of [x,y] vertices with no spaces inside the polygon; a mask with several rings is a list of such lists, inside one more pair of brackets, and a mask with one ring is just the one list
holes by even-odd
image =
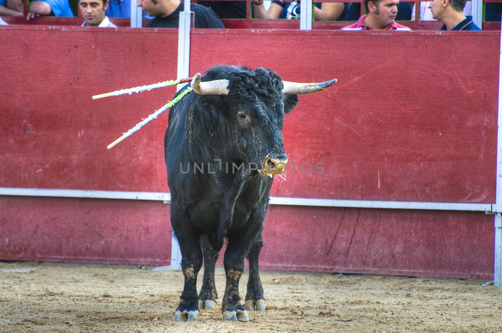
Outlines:
{"label": "dark-haired man in pink collared shirt looking right above barrier", "polygon": [[367,15],[341,30],[411,30],[396,23],[399,0],[364,0]]}

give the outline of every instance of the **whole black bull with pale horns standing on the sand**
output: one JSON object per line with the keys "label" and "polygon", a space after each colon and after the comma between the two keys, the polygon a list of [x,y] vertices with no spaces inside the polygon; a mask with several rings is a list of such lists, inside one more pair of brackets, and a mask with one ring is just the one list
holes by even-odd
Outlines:
{"label": "whole black bull with pale horns standing on the sand", "polygon": [[[199,307],[215,308],[214,264],[226,238],[223,318],[247,321],[246,309],[265,310],[258,257],[273,174],[282,173],[287,161],[284,114],[296,106],[297,94],[322,90],[336,80],[283,82],[264,68],[218,66],[202,81],[196,76],[194,91],[171,108],[165,136],[171,224],[185,277],[174,320],[197,320]],[[249,261],[245,307],[238,293],[244,257]]]}

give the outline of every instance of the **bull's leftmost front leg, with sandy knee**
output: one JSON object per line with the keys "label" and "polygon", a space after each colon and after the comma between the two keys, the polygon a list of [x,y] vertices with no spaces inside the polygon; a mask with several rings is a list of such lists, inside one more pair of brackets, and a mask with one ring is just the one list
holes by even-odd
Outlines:
{"label": "bull's leftmost front leg, with sandy knee", "polygon": [[171,225],[181,249],[181,269],[185,285],[176,309],[174,321],[194,321],[199,318],[197,300],[197,274],[202,266],[200,235],[190,226],[190,218],[183,205],[171,203]]}

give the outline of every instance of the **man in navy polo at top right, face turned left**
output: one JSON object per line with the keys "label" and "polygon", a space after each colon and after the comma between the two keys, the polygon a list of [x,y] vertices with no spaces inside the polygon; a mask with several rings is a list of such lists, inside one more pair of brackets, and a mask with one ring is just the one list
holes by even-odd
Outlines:
{"label": "man in navy polo at top right, face turned left", "polygon": [[472,16],[465,16],[462,11],[465,0],[432,0],[428,8],[432,18],[444,23],[441,30],[481,30],[472,21]]}

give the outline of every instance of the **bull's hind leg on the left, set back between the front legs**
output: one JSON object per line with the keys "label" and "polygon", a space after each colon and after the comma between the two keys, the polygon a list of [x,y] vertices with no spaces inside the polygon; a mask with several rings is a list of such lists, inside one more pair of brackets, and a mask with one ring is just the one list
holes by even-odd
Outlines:
{"label": "bull's hind leg on the left, set back between the front legs", "polygon": [[218,259],[218,252],[213,250],[207,236],[202,236],[200,243],[204,254],[204,279],[199,293],[199,309],[214,310],[216,309],[216,298],[218,298],[214,284],[214,265]]}

